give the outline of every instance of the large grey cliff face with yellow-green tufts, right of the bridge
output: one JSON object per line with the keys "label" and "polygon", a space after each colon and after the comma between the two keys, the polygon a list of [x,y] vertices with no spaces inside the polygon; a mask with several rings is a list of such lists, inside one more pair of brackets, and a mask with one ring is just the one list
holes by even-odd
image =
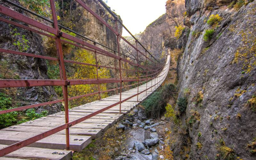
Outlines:
{"label": "large grey cliff face with yellow-green tufts, right of the bridge", "polygon": [[[231,2],[186,0],[191,31],[178,86],[179,97],[188,99],[181,119],[191,139],[189,159],[256,158],[256,2],[240,9]],[[216,25],[207,24],[212,14],[221,17]],[[209,29],[214,32],[205,41]]]}

